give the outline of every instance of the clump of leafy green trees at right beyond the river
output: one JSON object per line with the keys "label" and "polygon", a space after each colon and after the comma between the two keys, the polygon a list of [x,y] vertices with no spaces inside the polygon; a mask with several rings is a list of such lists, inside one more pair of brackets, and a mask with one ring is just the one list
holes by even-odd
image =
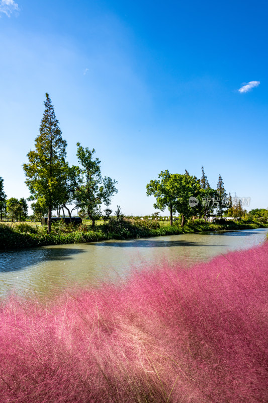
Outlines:
{"label": "clump of leafy green trees at right beyond the river", "polygon": [[[217,188],[210,186],[204,167],[202,167],[201,179],[190,175],[187,170],[184,174],[171,174],[168,170],[161,171],[158,179],[151,180],[146,189],[148,196],[153,195],[156,198],[153,205],[155,209],[169,210],[171,226],[173,215],[176,213],[182,217],[182,226],[190,217],[203,218],[206,223],[210,216],[238,218],[247,214],[239,198],[233,203],[231,194],[227,195],[221,175],[219,175]],[[268,211],[262,210],[260,214],[268,219]],[[256,215],[256,211],[253,210],[252,213],[248,213],[249,218]]]}

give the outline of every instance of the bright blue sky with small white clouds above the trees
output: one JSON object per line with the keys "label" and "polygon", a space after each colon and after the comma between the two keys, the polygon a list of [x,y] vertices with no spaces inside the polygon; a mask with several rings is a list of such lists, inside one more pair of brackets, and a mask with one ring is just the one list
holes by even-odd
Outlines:
{"label": "bright blue sky with small white clouds above the trees", "polygon": [[0,0],[8,197],[29,195],[22,164],[48,92],[68,161],[79,141],[118,180],[113,210],[151,214],[150,179],[202,165],[212,187],[221,174],[267,208],[267,17],[260,1]]}

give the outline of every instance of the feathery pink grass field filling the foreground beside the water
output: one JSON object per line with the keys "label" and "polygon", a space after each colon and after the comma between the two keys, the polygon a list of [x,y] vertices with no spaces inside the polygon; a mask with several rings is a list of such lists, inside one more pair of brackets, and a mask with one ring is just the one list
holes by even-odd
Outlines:
{"label": "feathery pink grass field filling the foreground beside the water", "polygon": [[[153,270],[152,270],[153,268]],[[268,401],[268,242],[0,309],[0,402]]]}

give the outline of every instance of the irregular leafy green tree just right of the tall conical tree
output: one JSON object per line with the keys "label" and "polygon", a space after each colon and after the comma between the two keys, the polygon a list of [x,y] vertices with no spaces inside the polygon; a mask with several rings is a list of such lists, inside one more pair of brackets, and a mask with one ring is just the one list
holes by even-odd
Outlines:
{"label": "irregular leafy green tree just right of the tall conical tree", "polygon": [[101,205],[109,206],[111,197],[118,192],[116,180],[102,177],[101,161],[99,158],[93,158],[94,153],[94,149],[91,151],[77,143],[76,155],[80,166],[72,167],[72,188],[75,189],[76,206],[82,211],[87,211],[93,228],[95,221],[102,216]]}

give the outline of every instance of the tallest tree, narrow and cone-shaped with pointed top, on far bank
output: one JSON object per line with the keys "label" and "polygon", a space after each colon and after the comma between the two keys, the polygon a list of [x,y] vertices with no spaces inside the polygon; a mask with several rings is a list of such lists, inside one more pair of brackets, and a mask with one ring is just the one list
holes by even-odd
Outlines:
{"label": "tallest tree, narrow and cone-shaped with pointed top, on far bank", "polygon": [[51,231],[52,210],[62,203],[62,188],[66,182],[66,146],[62,139],[59,122],[48,93],[44,101],[45,111],[35,139],[35,150],[27,154],[29,163],[23,165],[25,183],[31,200],[43,200],[48,211],[47,232]]}

